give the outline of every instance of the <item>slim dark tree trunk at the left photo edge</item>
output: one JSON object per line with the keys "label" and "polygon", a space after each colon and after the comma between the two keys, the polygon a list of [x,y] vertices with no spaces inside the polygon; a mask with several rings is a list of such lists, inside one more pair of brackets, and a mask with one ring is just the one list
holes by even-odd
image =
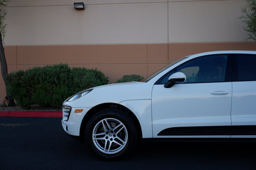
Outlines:
{"label": "slim dark tree trunk at the left photo edge", "polygon": [[7,91],[8,82],[6,82],[6,74],[8,73],[8,68],[7,68],[6,57],[5,57],[4,49],[3,49],[3,40],[2,40],[1,33],[0,33],[0,62],[1,62],[1,72],[2,72],[2,76],[3,76],[3,81],[6,86],[6,96],[7,96],[7,100],[9,101],[9,106],[15,106],[14,99],[12,98],[12,96],[9,95],[9,93]]}

